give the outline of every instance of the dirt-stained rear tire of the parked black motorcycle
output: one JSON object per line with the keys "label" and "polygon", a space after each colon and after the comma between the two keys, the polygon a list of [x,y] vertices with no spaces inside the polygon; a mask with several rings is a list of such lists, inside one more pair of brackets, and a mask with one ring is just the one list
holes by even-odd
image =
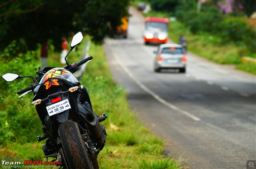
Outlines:
{"label": "dirt-stained rear tire of the parked black motorcycle", "polygon": [[93,169],[77,123],[74,121],[61,123],[58,133],[69,168]]}

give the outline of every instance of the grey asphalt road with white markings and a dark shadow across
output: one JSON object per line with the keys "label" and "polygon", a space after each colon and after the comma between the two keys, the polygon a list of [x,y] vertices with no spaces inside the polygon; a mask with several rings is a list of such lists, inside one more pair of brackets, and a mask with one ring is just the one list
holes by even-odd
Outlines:
{"label": "grey asphalt road with white markings and a dark shadow across", "polygon": [[256,159],[255,76],[192,53],[186,74],[155,73],[157,46],[144,45],[143,17],[130,13],[128,39],[105,39],[104,50],[138,119],[190,168],[246,168]]}

